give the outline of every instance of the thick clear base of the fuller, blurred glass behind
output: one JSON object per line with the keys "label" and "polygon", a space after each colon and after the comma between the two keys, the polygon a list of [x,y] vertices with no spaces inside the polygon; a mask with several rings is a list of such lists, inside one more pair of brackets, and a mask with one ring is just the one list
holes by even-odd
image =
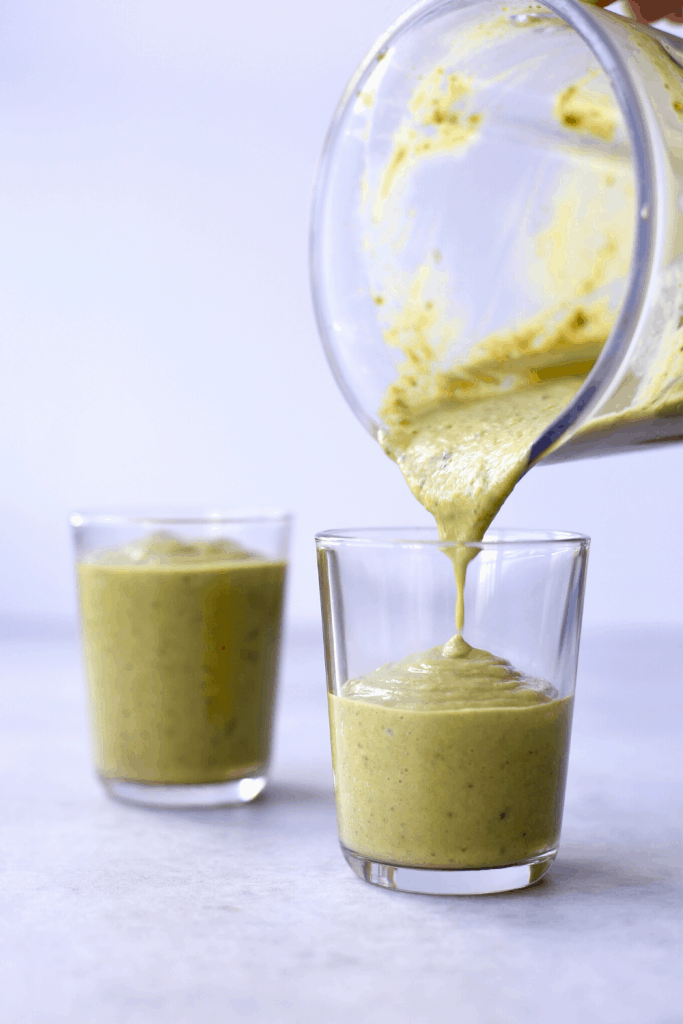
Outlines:
{"label": "thick clear base of the fuller, blurred glass behind", "polygon": [[228,782],[130,782],[122,778],[99,779],[110,797],[144,807],[229,807],[255,800],[266,783],[265,775]]}

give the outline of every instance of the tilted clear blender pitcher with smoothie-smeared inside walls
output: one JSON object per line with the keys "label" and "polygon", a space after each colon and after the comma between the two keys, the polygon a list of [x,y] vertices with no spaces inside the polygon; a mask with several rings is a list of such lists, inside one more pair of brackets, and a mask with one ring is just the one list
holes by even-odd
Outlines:
{"label": "tilted clear blender pitcher with smoothie-smeared inside walls", "polygon": [[376,437],[397,379],[482,342],[505,386],[514,336],[530,380],[583,378],[529,465],[683,439],[682,44],[577,0],[429,0],[378,42],[311,229],[324,345]]}

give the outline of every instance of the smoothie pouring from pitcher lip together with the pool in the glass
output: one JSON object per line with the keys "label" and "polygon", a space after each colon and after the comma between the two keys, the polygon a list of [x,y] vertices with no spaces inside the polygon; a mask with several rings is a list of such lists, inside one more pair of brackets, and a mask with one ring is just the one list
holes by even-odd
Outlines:
{"label": "smoothie pouring from pitcher lip together with the pool in the glass", "polygon": [[[565,361],[566,366],[566,361]],[[581,384],[566,377],[426,408],[394,402],[382,440],[446,541],[477,542],[527,468],[528,450]],[[438,383],[431,382],[432,395]],[[387,417],[391,422],[391,416]],[[476,544],[446,549],[458,589],[442,647],[330,694],[339,834],[352,853],[413,867],[480,868],[554,855],[572,698],[463,637]]]}

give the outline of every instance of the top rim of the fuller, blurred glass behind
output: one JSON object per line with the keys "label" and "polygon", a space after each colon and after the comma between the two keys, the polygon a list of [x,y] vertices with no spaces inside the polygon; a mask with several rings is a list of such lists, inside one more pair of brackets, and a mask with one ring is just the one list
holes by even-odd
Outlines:
{"label": "top rim of the fuller, blurred glass behind", "polygon": [[147,525],[147,526],[218,526],[227,523],[281,523],[289,525],[292,513],[278,508],[238,508],[233,511],[204,512],[199,509],[169,508],[163,510],[147,510],[144,508],[128,509],[83,509],[69,514],[69,522],[74,528],[81,526],[116,526],[116,525]]}

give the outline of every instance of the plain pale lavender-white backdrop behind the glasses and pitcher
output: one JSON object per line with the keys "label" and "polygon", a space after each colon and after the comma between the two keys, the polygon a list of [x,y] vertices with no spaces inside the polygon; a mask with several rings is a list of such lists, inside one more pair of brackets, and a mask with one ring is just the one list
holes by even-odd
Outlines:
{"label": "plain pale lavender-white backdrop behind the glasses and pitcher", "polygon": [[[0,7],[0,615],[72,620],[76,507],[427,514],[345,407],[307,278],[315,163],[402,0]],[[683,447],[535,469],[507,525],[593,538],[592,625],[680,621]]]}

